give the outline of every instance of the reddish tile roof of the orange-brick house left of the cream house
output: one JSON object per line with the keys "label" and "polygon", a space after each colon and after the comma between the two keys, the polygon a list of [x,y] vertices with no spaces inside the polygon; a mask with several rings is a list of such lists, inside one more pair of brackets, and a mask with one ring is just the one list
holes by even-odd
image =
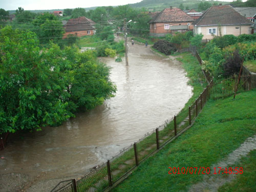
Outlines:
{"label": "reddish tile roof of the orange-brick house left of the cream house", "polygon": [[166,8],[156,14],[150,23],[191,22],[194,19],[179,8]]}

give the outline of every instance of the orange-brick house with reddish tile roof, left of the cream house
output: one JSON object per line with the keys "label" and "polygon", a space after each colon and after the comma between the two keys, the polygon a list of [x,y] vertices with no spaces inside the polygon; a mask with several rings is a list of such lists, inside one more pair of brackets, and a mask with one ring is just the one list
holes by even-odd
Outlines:
{"label": "orange-brick house with reddish tile roof, left of the cream house", "polygon": [[166,8],[156,13],[150,22],[151,36],[165,36],[167,33],[193,30],[193,18],[179,8]]}

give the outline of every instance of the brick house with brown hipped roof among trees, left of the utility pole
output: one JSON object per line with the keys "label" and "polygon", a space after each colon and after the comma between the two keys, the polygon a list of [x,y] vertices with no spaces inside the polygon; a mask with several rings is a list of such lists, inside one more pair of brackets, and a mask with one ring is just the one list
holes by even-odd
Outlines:
{"label": "brick house with brown hipped roof among trees, left of the utility pole", "polygon": [[69,34],[74,34],[78,37],[93,35],[95,33],[95,23],[84,16],[78,18],[71,18],[64,26],[66,33],[63,38],[66,38]]}

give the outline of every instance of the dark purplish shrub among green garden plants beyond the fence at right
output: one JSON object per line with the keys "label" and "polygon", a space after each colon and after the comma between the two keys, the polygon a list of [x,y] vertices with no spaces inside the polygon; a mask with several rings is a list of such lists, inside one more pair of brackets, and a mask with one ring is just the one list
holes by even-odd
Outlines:
{"label": "dark purplish shrub among green garden plants beyond the fence at right", "polygon": [[230,77],[233,74],[238,74],[241,68],[242,58],[240,57],[238,50],[234,50],[231,54],[226,55],[224,62],[224,77]]}

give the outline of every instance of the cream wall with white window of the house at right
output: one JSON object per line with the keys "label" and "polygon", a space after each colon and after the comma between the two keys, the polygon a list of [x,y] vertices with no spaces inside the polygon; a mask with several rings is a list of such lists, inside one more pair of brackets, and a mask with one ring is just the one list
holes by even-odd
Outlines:
{"label": "cream wall with white window of the house at right", "polygon": [[[208,34],[208,30],[213,28],[216,29],[217,34],[215,34],[215,36],[220,36],[220,31],[218,29],[218,26],[204,26],[204,27],[195,26],[194,33],[195,34],[202,33],[204,35],[203,39],[212,39],[214,38],[214,36],[212,36],[211,34]],[[234,36],[238,36],[241,34],[251,34],[251,29],[250,29],[250,25],[221,26],[221,34],[234,35]]]}

